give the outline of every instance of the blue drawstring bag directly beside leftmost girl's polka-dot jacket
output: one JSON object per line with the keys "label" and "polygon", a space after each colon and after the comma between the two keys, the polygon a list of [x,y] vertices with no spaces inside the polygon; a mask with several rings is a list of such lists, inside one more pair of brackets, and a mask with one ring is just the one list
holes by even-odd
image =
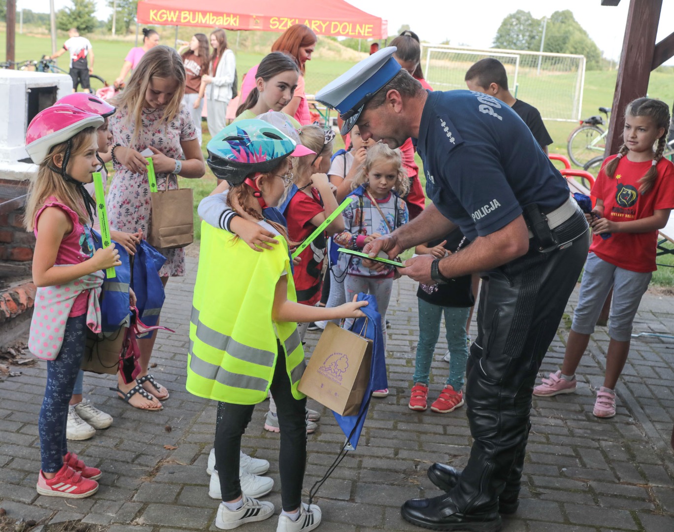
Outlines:
{"label": "blue drawstring bag directly beside leftmost girl's polka-dot jacket", "polygon": [[[103,241],[100,233],[92,229],[98,238],[94,247],[100,249]],[[121,266],[115,266],[115,276],[103,280],[100,294],[100,318],[102,332],[115,332],[122,326],[129,326],[131,310],[129,309],[129,285],[131,283],[131,265],[129,254],[124,247],[115,242],[119,252]]]}

